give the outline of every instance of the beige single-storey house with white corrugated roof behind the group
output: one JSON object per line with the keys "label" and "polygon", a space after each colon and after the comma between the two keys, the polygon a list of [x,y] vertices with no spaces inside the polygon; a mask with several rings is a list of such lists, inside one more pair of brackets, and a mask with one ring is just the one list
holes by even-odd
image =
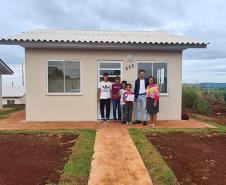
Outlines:
{"label": "beige single-storey house with white corrugated roof behind the group", "polygon": [[27,121],[95,121],[102,74],[134,85],[139,69],[161,88],[158,118],[180,120],[182,52],[208,43],[164,32],[40,29],[0,44],[25,48]]}

